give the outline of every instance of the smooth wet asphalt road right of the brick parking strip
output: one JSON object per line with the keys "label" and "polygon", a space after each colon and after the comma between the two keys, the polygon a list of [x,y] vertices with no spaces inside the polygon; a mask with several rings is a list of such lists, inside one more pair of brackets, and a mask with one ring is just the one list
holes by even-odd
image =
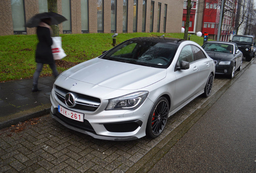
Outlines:
{"label": "smooth wet asphalt road right of the brick parking strip", "polygon": [[149,172],[256,172],[255,62]]}

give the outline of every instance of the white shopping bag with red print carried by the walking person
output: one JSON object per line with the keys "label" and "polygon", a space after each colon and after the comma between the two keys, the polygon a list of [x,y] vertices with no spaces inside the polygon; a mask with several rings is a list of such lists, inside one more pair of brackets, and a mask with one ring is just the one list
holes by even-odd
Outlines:
{"label": "white shopping bag with red print carried by the walking person", "polygon": [[67,56],[62,49],[61,37],[52,37],[52,54],[54,60],[62,59]]}

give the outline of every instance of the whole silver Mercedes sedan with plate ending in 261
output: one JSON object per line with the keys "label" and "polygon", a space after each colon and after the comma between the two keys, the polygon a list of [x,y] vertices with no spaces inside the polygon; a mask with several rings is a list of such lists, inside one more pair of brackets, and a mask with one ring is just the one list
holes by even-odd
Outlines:
{"label": "whole silver Mercedes sedan with plate ending in 261", "polygon": [[215,64],[195,42],[141,37],[62,72],[51,115],[97,139],[155,138],[167,118],[213,86]]}

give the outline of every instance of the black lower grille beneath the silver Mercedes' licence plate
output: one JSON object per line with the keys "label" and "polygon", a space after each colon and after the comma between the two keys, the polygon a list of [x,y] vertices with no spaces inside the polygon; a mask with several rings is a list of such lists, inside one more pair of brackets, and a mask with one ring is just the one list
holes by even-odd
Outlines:
{"label": "black lower grille beneath the silver Mercedes' licence plate", "polygon": [[62,115],[61,113],[59,113],[58,108],[54,109],[54,115],[56,117],[58,117],[61,121],[63,121],[64,123],[66,123],[70,126],[73,126],[73,127],[79,128],[79,129],[83,129],[83,130],[86,130],[86,131],[91,131],[92,133],[95,133],[93,127],[91,126],[89,121],[87,121],[86,119],[84,119],[84,122],[70,119],[70,118]]}

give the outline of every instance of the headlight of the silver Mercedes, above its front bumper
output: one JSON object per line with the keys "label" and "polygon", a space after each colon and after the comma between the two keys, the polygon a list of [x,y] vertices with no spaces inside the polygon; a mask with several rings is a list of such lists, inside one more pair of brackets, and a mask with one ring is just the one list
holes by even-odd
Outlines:
{"label": "headlight of the silver Mercedes, above its front bumper", "polygon": [[105,110],[135,110],[146,100],[148,94],[148,91],[139,91],[110,99]]}

